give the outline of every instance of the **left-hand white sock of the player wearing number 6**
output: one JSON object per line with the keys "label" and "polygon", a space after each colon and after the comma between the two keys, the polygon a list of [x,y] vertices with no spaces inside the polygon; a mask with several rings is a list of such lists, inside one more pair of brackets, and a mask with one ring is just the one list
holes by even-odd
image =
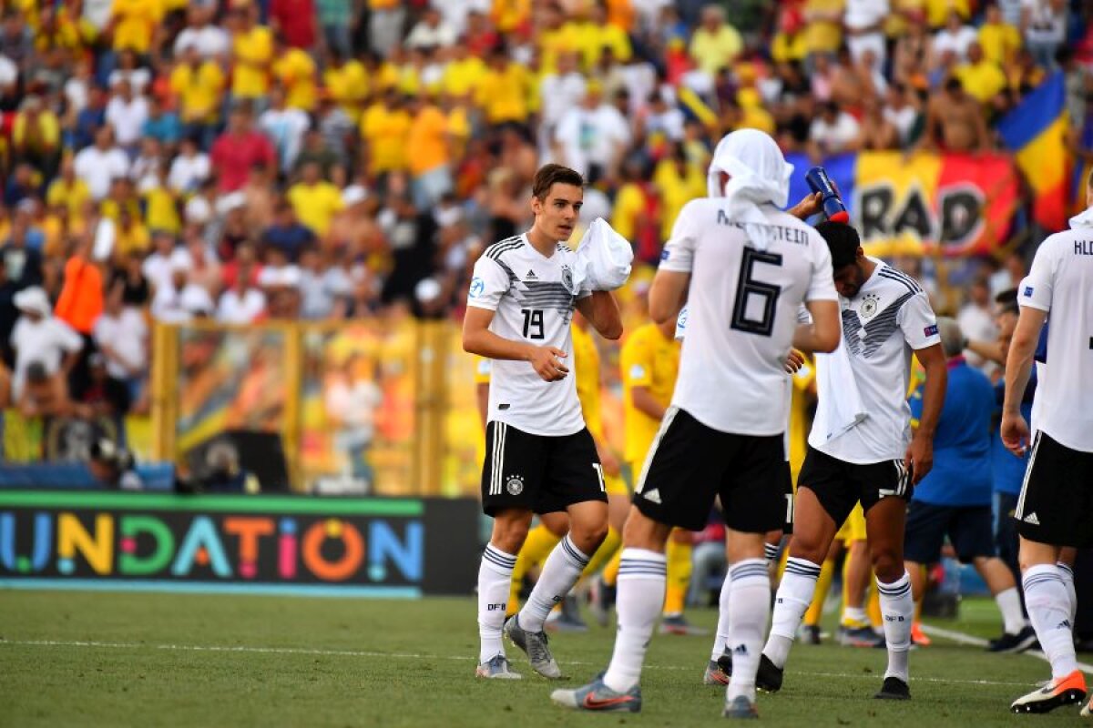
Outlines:
{"label": "left-hand white sock of the player wearing number 6", "polygon": [[668,560],[663,553],[623,549],[615,597],[619,630],[611,665],[603,673],[603,683],[611,690],[623,693],[640,680],[645,651],[665,606],[667,583]]}

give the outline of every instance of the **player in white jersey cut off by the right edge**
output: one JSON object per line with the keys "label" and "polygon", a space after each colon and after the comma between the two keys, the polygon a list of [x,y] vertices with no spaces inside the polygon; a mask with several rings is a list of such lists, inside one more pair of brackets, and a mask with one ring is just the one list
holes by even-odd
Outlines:
{"label": "player in white jersey cut off by the right edge", "polygon": [[[1021,583],[1029,618],[1051,664],[1051,680],[1019,697],[1014,713],[1046,713],[1086,694],[1074,656],[1078,605],[1073,574],[1060,561],[1062,547],[1093,546],[1093,177],[1089,208],[1071,218],[1070,230],[1048,237],[1018,288],[1021,317],[1006,361],[1002,442],[1023,455],[1029,423],[1021,393],[1032,370],[1041,330],[1047,332],[1047,362],[1038,370],[1032,458],[1013,517],[1021,535]],[[1093,701],[1082,708],[1093,717]]]}

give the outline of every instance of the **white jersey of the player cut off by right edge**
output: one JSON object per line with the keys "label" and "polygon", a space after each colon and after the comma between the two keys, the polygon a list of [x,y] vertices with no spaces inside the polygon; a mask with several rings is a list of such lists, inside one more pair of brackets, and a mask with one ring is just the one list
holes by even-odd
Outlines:
{"label": "white jersey of the player cut off by right edge", "polygon": [[1071,450],[1093,452],[1093,229],[1041,243],[1018,289],[1021,306],[1047,311],[1047,366],[1039,366],[1036,429]]}

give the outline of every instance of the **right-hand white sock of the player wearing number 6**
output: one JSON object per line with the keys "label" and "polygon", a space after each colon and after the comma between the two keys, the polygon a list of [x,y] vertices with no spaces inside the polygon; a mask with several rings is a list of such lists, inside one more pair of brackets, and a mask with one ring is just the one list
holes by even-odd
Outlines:
{"label": "right-hand white sock of the player wearing number 6", "polygon": [[732,653],[732,680],[726,700],[743,695],[754,701],[755,672],[771,617],[771,575],[763,559],[744,559],[732,564],[731,571],[730,628],[726,644]]}

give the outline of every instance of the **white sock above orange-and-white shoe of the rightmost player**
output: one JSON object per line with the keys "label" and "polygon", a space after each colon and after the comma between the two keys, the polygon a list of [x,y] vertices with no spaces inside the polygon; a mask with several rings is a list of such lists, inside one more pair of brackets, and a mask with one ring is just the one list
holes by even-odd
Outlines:
{"label": "white sock above orange-and-white shoe of the rightmost player", "polygon": [[1029,618],[1041,649],[1051,664],[1051,677],[1056,679],[1078,669],[1070,598],[1063,578],[1058,565],[1046,563],[1025,569],[1021,578]]}

